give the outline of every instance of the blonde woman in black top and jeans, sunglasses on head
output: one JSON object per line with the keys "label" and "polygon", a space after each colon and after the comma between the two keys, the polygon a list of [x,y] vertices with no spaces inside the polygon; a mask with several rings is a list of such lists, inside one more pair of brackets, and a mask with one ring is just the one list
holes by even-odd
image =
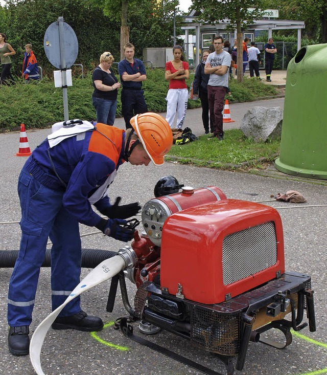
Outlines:
{"label": "blonde woman in black top and jeans, sunglasses on head", "polygon": [[113,125],[116,107],[117,94],[121,83],[110,70],[113,56],[110,52],[104,52],[100,56],[100,64],[93,71],[92,81],[94,92],[92,94],[93,105],[97,111],[97,122]]}

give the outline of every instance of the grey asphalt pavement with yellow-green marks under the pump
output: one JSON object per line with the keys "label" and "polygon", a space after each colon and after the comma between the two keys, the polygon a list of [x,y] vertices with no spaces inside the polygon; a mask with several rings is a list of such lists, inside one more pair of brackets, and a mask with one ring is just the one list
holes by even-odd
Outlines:
{"label": "grey asphalt pavement with yellow-green marks under the pump", "polygon": [[[229,127],[239,127],[245,112],[252,106],[283,106],[284,99],[270,99],[251,103],[230,105],[231,118],[235,123]],[[123,120],[116,120],[124,127]],[[192,128],[196,135],[203,134],[201,109],[189,110],[185,126]],[[227,128],[227,126],[225,127]],[[50,133],[50,129],[30,130],[27,133],[31,149],[34,149]],[[25,157],[16,157],[19,132],[0,134],[0,250],[18,250],[20,240],[20,207],[17,195],[17,178]],[[110,187],[110,196],[122,196],[122,203],[138,201],[144,205],[153,197],[153,188],[158,179],[172,174],[184,185],[194,188],[218,186],[228,198],[262,202],[275,207],[282,217],[285,239],[286,269],[308,273],[312,276],[315,291],[315,311],[317,330],[310,333],[303,329],[300,335],[293,335],[293,342],[286,349],[279,350],[261,343],[250,343],[242,374],[246,375],[315,375],[327,373],[327,233],[325,217],[327,213],[327,188],[317,183],[292,177],[288,180],[262,177],[244,172],[221,171],[195,166],[165,163],[162,167],[150,164],[131,166],[125,163]],[[313,181],[314,182],[314,181]],[[298,190],[307,203],[290,204],[276,202],[271,198],[278,192]],[[125,243],[94,234],[95,229],[81,225],[82,247],[118,251]],[[50,247],[50,244],[49,244]],[[176,259],[183,267],[183,260]],[[82,270],[85,277],[89,269]],[[201,277],[201,272],[194,277]],[[7,348],[7,293],[12,268],[1,268],[0,264],[0,374],[34,375],[29,357],[15,357]],[[131,304],[135,286],[127,281]],[[74,330],[55,331],[50,329],[43,344],[41,363],[47,375],[196,375],[200,372],[141,346],[112,327],[112,321],[125,316],[120,295],[116,298],[113,313],[106,312],[110,282],[104,282],[82,296],[83,309],[101,316],[107,325],[97,335]],[[50,269],[40,273],[31,333],[50,314]],[[137,335],[137,324],[134,324]],[[160,332],[149,338],[155,343],[176,350],[179,354],[224,372],[215,355],[168,332]]]}

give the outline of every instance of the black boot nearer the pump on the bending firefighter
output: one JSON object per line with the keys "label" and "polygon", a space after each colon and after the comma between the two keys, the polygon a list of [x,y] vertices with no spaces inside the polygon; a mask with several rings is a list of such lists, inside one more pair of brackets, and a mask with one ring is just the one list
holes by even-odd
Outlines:
{"label": "black boot nearer the pump on the bending firefighter", "polygon": [[87,332],[98,331],[103,328],[103,321],[97,316],[87,315],[84,311],[72,316],[57,317],[52,323],[53,329],[77,329]]}

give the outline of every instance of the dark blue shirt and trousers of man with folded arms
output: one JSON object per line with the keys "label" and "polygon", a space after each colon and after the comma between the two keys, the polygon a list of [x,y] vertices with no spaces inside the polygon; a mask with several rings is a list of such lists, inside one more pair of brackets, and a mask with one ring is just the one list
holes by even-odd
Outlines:
{"label": "dark blue shirt and trousers of man with folded arms", "polygon": [[141,113],[148,112],[148,107],[144,99],[144,91],[142,90],[142,82],[123,81],[123,74],[141,73],[146,75],[144,63],[139,59],[133,59],[133,63],[128,62],[125,58],[118,64],[118,73],[121,77],[123,90],[121,93],[122,114],[125,120],[126,129],[131,128],[130,119]]}

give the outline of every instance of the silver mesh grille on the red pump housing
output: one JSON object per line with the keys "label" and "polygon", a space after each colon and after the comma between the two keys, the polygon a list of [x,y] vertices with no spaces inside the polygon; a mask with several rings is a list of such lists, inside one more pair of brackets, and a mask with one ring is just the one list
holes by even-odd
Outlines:
{"label": "silver mesh grille on the red pump housing", "polygon": [[226,236],[222,259],[224,285],[273,266],[277,260],[274,222],[259,224]]}

